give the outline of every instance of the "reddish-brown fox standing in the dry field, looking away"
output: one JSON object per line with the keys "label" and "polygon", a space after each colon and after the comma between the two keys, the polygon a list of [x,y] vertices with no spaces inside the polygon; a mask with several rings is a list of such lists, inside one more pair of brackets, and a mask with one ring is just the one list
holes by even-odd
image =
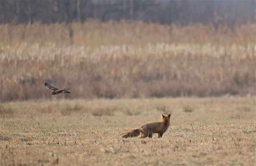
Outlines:
{"label": "reddish-brown fox standing in the dry field, looking away", "polygon": [[161,122],[144,124],[143,126],[141,126],[141,128],[137,128],[130,132],[121,134],[121,137],[122,138],[135,137],[141,134],[140,138],[146,138],[146,137],[152,138],[153,133],[158,133],[158,138],[162,138],[163,134],[170,127],[171,114],[169,114],[167,117],[165,117],[163,114],[161,115],[162,115]]}

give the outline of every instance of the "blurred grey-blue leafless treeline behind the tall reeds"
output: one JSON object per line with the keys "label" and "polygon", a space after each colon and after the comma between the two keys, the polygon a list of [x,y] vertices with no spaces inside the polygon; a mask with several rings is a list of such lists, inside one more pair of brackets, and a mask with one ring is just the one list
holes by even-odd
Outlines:
{"label": "blurred grey-blue leafless treeline behind the tall reeds", "polygon": [[255,0],[0,0],[0,23],[141,20],[170,23],[255,21]]}

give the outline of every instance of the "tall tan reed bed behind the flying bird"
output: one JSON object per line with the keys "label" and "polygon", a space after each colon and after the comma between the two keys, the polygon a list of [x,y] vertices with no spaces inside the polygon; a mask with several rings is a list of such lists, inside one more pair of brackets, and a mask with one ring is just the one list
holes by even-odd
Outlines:
{"label": "tall tan reed bed behind the flying bird", "polygon": [[0,25],[0,100],[254,95],[255,27]]}

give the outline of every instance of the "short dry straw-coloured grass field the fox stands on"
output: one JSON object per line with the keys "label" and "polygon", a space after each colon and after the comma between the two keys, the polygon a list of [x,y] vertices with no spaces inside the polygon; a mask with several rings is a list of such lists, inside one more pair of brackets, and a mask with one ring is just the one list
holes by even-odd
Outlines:
{"label": "short dry straw-coloured grass field the fox stands on", "polygon": [[[184,111],[186,103],[192,112]],[[171,127],[163,138],[119,137],[160,121],[164,111],[171,112]],[[0,121],[0,165],[256,162],[255,98],[8,102],[0,105]]]}

